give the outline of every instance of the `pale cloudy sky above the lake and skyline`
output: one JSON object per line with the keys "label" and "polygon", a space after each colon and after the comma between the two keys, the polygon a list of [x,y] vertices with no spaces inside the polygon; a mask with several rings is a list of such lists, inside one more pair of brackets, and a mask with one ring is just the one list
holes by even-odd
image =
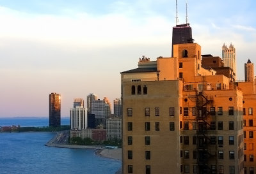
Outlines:
{"label": "pale cloudy sky above the lake and skyline", "polygon": [[[193,39],[221,57],[223,43],[256,62],[255,0],[188,0]],[[74,98],[120,98],[120,72],[142,55],[171,57],[175,0],[0,0],[0,117],[48,117],[61,94],[61,117]],[[178,0],[179,24],[186,0]]]}

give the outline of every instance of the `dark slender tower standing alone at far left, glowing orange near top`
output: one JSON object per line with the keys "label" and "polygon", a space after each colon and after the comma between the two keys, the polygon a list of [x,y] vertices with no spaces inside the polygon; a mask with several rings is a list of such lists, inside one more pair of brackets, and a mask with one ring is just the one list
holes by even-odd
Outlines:
{"label": "dark slender tower standing alone at far left, glowing orange near top", "polygon": [[60,94],[49,94],[49,126],[60,126],[61,98]]}

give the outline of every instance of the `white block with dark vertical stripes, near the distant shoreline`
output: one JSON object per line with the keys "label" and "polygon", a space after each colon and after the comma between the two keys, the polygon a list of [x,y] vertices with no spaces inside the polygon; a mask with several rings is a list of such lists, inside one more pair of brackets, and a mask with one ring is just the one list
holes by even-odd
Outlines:
{"label": "white block with dark vertical stripes, near the distant shoreline", "polygon": [[87,109],[83,106],[76,106],[70,109],[70,126],[71,129],[86,129],[87,128]]}

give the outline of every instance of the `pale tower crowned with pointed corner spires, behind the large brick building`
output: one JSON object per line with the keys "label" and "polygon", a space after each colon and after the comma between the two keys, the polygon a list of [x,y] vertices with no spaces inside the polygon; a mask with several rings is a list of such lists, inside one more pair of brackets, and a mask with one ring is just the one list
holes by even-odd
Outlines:
{"label": "pale tower crowned with pointed corner spires, behind the large brick building", "polygon": [[230,43],[229,48],[225,43],[223,44],[222,59],[224,61],[224,66],[232,68],[234,75],[236,76],[236,48],[232,43]]}

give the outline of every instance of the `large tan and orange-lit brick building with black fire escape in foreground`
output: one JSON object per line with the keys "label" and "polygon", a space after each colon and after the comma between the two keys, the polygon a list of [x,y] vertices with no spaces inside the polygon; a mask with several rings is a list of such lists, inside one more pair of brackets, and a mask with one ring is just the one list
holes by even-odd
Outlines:
{"label": "large tan and orange-lit brick building with black fire escape in foreground", "polygon": [[243,92],[202,67],[200,45],[173,45],[121,80],[124,174],[244,173]]}

